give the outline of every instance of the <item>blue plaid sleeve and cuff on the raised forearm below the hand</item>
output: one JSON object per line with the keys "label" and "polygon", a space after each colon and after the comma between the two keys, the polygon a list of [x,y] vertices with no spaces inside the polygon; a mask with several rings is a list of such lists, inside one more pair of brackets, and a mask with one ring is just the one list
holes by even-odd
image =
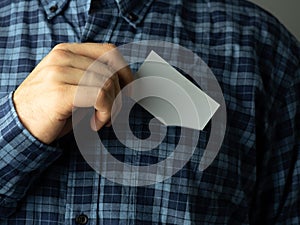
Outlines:
{"label": "blue plaid sleeve and cuff on the raised forearm below the hand", "polygon": [[60,155],[23,127],[12,93],[0,98],[0,218],[14,212],[31,183]]}

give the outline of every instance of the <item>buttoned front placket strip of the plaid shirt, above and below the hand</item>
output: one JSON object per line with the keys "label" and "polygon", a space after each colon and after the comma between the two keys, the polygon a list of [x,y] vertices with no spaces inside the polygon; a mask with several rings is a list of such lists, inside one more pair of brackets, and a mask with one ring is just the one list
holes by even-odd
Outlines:
{"label": "buttoned front placket strip of the plaid shirt, above and below the hand", "polygon": [[[92,3],[90,5],[92,7]],[[89,8],[90,8],[89,7]],[[110,42],[111,36],[115,30],[116,23],[119,20],[119,11],[117,7],[97,7],[89,10],[87,13],[86,24],[81,30],[81,37],[79,42],[95,42],[95,40],[101,40],[101,42]],[[104,19],[107,18],[107,21]],[[100,21],[101,20],[101,21]],[[99,23],[106,24],[105,29],[99,28]],[[95,33],[95,31],[97,31]],[[99,217],[99,188],[100,188],[100,175],[94,171],[83,172],[85,174],[85,180],[90,180],[92,182],[92,193],[91,202],[89,204],[74,204],[75,202],[75,189],[82,188],[84,192],[84,182],[74,183],[82,179],[79,177],[79,173],[76,169],[76,162],[78,162],[78,155],[71,155],[74,157],[71,161],[69,168],[69,177],[68,177],[68,189],[66,196],[66,216],[65,223],[72,225],[98,225],[98,222],[101,223],[101,218]],[[86,193],[85,193],[86,194]]]}

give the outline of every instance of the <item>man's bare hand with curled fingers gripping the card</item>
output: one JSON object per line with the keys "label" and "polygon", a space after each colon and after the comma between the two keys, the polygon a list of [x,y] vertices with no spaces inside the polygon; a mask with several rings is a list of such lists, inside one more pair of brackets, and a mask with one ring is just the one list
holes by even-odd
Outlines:
{"label": "man's bare hand with curled fingers gripping the card", "polygon": [[[112,44],[59,44],[17,88],[13,101],[25,128],[49,144],[71,131],[76,107],[93,106],[91,126],[99,130],[110,120],[120,84],[132,80],[129,67]],[[80,97],[76,96],[79,88],[84,93]]]}

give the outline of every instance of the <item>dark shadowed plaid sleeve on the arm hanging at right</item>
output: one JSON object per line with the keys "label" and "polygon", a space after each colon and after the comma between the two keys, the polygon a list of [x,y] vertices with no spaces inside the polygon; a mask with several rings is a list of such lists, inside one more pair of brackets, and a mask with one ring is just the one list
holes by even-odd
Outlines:
{"label": "dark shadowed plaid sleeve on the arm hanging at right", "polygon": [[[282,73],[283,78],[274,89],[270,110],[257,115],[257,184],[251,224],[300,224],[300,48],[297,41],[293,43],[282,44],[277,51],[281,57],[274,56],[278,61],[273,74]],[[260,108],[269,102],[271,97],[265,97]]]}

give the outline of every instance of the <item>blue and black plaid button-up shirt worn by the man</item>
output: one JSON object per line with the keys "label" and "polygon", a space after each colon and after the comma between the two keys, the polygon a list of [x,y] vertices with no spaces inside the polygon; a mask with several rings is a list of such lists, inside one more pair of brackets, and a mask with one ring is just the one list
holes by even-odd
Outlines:
{"label": "blue and black plaid button-up shirt worn by the man", "polygon": [[[0,2],[0,224],[300,224],[295,38],[247,1],[90,2]],[[18,120],[12,93],[58,43],[139,40],[180,44],[209,65],[224,93],[227,129],[204,172],[197,168],[209,130],[174,176],[131,187],[91,169],[72,134],[59,147],[36,140]],[[141,111],[133,111],[131,122],[143,136],[148,122]],[[176,129],[158,152],[172,152]],[[137,153],[120,145],[111,128],[100,135],[126,163],[156,157],[132,157]]]}

